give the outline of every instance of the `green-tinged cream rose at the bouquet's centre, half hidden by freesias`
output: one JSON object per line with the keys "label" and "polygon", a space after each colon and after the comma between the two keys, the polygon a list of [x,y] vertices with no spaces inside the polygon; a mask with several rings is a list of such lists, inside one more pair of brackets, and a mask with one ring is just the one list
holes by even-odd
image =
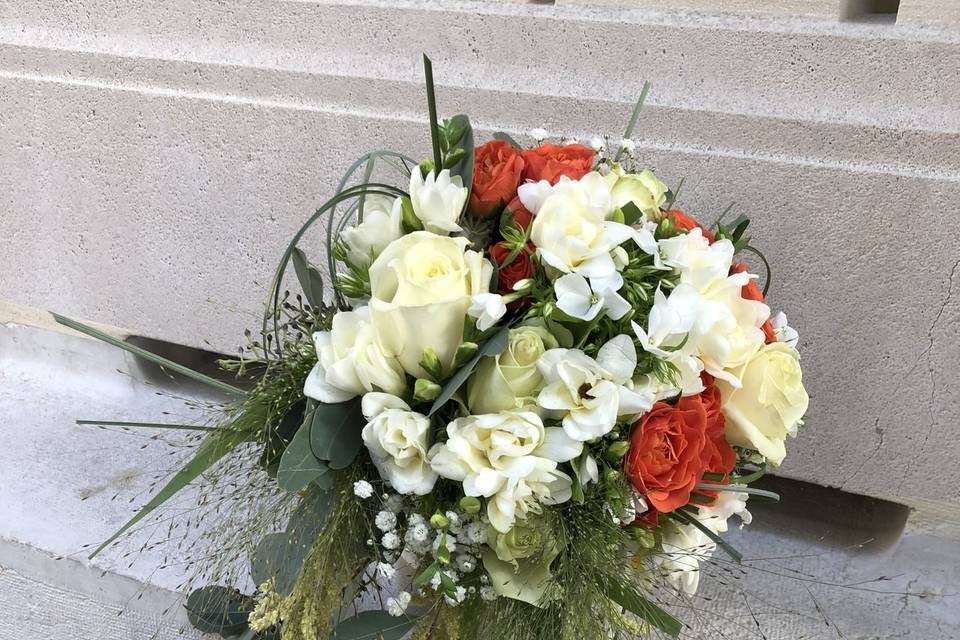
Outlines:
{"label": "green-tinged cream rose at the bouquet's centre, half hidden by freesias", "polygon": [[507,350],[483,358],[467,381],[467,405],[472,413],[496,413],[537,404],[543,375],[537,361],[560,345],[543,326],[510,330]]}

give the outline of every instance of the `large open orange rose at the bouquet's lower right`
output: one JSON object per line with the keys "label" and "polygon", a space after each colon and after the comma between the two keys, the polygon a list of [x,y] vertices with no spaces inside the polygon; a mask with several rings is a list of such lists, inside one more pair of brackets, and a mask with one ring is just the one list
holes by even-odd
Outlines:
{"label": "large open orange rose at the bouquet's lower right", "polygon": [[624,473],[657,511],[673,511],[690,502],[703,477],[712,453],[707,445],[707,412],[699,397],[658,402],[630,434]]}

